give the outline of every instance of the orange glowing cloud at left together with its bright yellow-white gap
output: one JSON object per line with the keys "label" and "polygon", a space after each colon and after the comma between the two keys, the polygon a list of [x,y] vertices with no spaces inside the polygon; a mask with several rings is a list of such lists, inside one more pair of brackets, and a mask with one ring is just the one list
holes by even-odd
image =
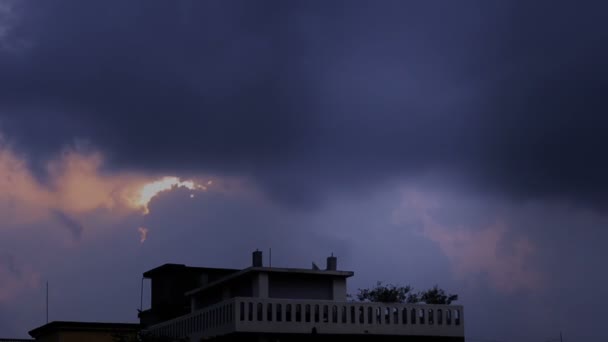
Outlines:
{"label": "orange glowing cloud at left together with its bright yellow-white gap", "polygon": [[213,184],[134,172],[104,173],[102,166],[99,153],[67,150],[47,165],[48,181],[42,183],[24,158],[0,142],[0,219],[40,222],[53,213],[80,215],[99,209],[114,216],[147,214],[150,201],[161,193],[177,188],[206,191]]}

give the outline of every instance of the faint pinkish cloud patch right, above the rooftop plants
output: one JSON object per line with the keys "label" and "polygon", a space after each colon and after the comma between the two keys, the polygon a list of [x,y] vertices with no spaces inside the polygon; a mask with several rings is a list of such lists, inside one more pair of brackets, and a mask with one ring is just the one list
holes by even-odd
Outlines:
{"label": "faint pinkish cloud patch right, above the rooftop plants", "polygon": [[439,204],[424,194],[407,192],[395,219],[397,223],[420,223],[418,233],[438,244],[462,280],[483,274],[502,292],[533,290],[540,286],[541,274],[529,266],[536,251],[529,239],[519,236],[507,240],[509,227],[500,219],[476,229],[442,225],[431,214],[437,208]]}

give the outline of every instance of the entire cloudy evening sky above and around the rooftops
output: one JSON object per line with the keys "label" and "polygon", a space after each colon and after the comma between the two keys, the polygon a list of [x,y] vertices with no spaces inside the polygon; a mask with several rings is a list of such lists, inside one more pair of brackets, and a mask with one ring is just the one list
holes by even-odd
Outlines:
{"label": "entire cloudy evening sky above and around the rooftops", "polygon": [[0,0],[0,335],[272,248],[438,284],[469,341],[606,341],[607,10]]}

